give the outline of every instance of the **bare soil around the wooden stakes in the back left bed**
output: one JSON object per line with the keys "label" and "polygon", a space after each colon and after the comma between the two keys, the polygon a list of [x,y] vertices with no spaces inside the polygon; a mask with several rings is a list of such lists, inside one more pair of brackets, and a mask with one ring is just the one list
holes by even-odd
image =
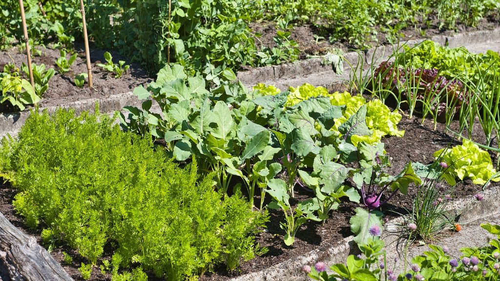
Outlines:
{"label": "bare soil around the wooden stakes in the back left bed", "polygon": [[[85,52],[83,51],[84,49],[82,44],[75,44],[75,49],[78,53],[77,58],[73,65],[71,65],[70,70],[64,74],[59,74],[57,72],[58,67],[55,64],[55,60],[60,56],[58,49],[39,46],[36,46],[35,49],[40,52],[40,55],[35,55],[32,59],[32,63],[43,63],[45,64],[45,69],[52,67],[56,71],[55,75],[48,81],[48,89],[42,95],[42,99],[39,102],[39,105],[42,107],[61,105],[87,98],[102,98],[112,94],[120,94],[133,90],[133,88],[137,85],[152,81],[152,79],[146,75],[146,72],[143,71],[138,64],[129,63],[129,61],[122,56],[110,51],[114,63],[118,63],[118,60],[125,60],[126,64],[130,65],[130,68],[120,78],[114,78],[112,73],[109,73],[96,65],[96,63],[105,63],[105,50],[90,48],[90,61],[92,62],[91,67],[94,89],[91,90],[88,88],[87,78],[85,79],[85,85],[82,88],[79,88],[74,84],[74,76],[80,73],[87,73]],[[35,52],[32,51],[32,53]],[[66,58],[69,58],[69,54],[66,55]],[[14,63],[16,67],[20,68],[22,62],[26,63],[26,55],[18,48],[13,47],[9,50],[0,51],[1,70],[7,63]],[[20,72],[22,72],[22,70]],[[29,80],[24,73],[22,73],[22,75],[24,78]],[[12,111],[12,108],[5,106],[0,107],[0,112],[9,111]]]}

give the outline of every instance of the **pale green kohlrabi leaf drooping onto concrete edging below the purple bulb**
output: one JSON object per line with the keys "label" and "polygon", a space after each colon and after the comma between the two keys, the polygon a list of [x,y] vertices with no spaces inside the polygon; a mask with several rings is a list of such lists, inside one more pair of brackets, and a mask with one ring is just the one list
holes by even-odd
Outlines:
{"label": "pale green kohlrabi leaf drooping onto concrete edging below the purple bulb", "polygon": [[354,233],[354,242],[358,245],[365,244],[368,241],[368,238],[374,238],[369,232],[368,229],[376,225],[380,229],[380,233],[382,232],[382,213],[380,211],[370,211],[368,212],[366,209],[357,207],[355,209],[356,214],[351,216],[349,219],[350,223],[350,231]]}

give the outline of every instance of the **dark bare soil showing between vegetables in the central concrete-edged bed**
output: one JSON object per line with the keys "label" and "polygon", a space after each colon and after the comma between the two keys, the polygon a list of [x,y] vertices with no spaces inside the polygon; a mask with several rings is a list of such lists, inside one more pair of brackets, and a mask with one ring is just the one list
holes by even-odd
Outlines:
{"label": "dark bare soil showing between vegetables in the central concrete-edged bed", "polygon": [[[451,127],[456,125],[457,121],[454,121]],[[426,120],[424,124],[421,124],[417,117],[408,119],[403,116],[398,127],[399,129],[405,130],[405,134],[402,138],[391,136],[382,139],[385,143],[387,154],[390,157],[391,167],[389,168],[389,172],[393,174],[399,172],[408,161],[428,163],[433,159],[432,153],[434,151],[446,146],[448,143],[457,144],[455,139],[443,133],[445,129],[443,124],[438,123],[437,130],[433,130],[433,124],[430,120]],[[481,129],[476,127],[473,138],[480,141],[481,134]],[[491,186],[497,185],[498,183],[493,183]],[[472,184],[470,180],[465,180],[457,184],[453,194],[454,197],[461,197],[467,194],[474,194],[479,191],[480,188],[481,186]],[[313,193],[310,190],[300,187],[299,185],[296,185],[295,190],[297,194],[296,198],[291,200],[293,203],[313,196]],[[397,213],[406,212],[404,208],[411,208],[411,202],[413,195],[415,194],[415,189],[410,188],[408,193],[409,194],[407,196],[398,194],[392,198],[388,204],[384,205],[382,210],[384,211],[386,217],[398,216]],[[26,233],[35,236],[37,241],[40,244],[43,244],[39,235],[41,229],[29,229],[23,224],[22,217],[15,213],[11,204],[14,195],[15,190],[8,183],[1,184],[0,211],[15,226],[21,228]],[[278,210],[269,210],[270,222],[267,223],[267,229],[265,229],[265,232],[257,234],[256,238],[256,241],[260,244],[260,246],[268,248],[268,252],[262,256],[256,257],[255,259],[243,262],[241,266],[233,272],[227,272],[222,265],[219,268],[215,268],[213,273],[206,273],[202,275],[200,280],[227,280],[240,274],[267,268],[286,259],[307,253],[318,247],[328,247],[334,245],[335,242],[340,240],[342,237],[347,237],[351,234],[348,221],[350,216],[354,214],[354,208],[357,206],[360,205],[344,201],[339,209],[331,214],[330,218],[326,220],[324,225],[312,221],[305,223],[297,232],[295,243],[292,246],[286,246],[282,241],[284,231],[279,228],[279,221],[282,221],[283,219],[281,212]],[[65,264],[63,262],[63,251],[68,253],[73,258],[71,264]],[[102,258],[109,259],[111,251],[111,246],[108,246]],[[71,277],[75,280],[82,280],[77,268],[80,266],[81,262],[85,261],[77,256],[77,252],[75,250],[70,249],[67,245],[62,245],[62,247],[54,248],[51,253],[57,261],[61,262],[64,269],[71,275]],[[95,266],[93,268],[91,280],[109,279],[109,274],[103,275],[100,273],[98,267]]]}

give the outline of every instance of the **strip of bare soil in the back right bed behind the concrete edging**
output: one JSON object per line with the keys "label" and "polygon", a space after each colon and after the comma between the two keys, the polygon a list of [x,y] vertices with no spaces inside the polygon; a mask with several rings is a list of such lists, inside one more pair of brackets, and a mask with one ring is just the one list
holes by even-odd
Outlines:
{"label": "strip of bare soil in the back right bed behind the concrete edging", "polygon": [[[500,27],[500,21],[493,16],[489,16],[480,20],[475,27],[458,24],[456,29],[439,29],[439,21],[436,18],[430,18],[429,25],[418,24],[416,26],[406,26],[399,30],[398,36],[401,42],[411,39],[430,38],[434,35],[453,35],[457,32],[471,32],[477,30],[491,30]],[[258,47],[276,46],[273,37],[276,36],[276,27],[270,21],[252,22],[250,23],[252,30],[259,34],[256,36],[255,44]],[[376,40],[367,42],[371,46],[377,44],[389,44],[386,38],[387,31],[377,28]],[[338,48],[342,51],[357,48],[346,41],[329,42],[328,37],[330,31],[324,28],[317,27],[313,24],[296,25],[290,31],[290,39],[298,43],[300,50],[299,59],[305,59],[311,55],[321,55],[326,53],[331,48]],[[316,39],[323,37],[320,39]]]}

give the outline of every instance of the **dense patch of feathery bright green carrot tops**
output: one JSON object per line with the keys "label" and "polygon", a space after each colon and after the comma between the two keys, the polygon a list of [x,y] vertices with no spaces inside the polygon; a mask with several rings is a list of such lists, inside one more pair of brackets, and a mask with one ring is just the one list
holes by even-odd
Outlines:
{"label": "dense patch of feathery bright green carrot tops", "polygon": [[261,252],[253,234],[266,216],[241,193],[214,191],[196,161],[181,168],[150,137],[112,122],[34,111],[17,138],[2,140],[0,174],[19,191],[14,207],[45,241],[62,239],[92,264],[112,243],[113,274],[134,263],[167,280],[221,263],[231,270]]}

